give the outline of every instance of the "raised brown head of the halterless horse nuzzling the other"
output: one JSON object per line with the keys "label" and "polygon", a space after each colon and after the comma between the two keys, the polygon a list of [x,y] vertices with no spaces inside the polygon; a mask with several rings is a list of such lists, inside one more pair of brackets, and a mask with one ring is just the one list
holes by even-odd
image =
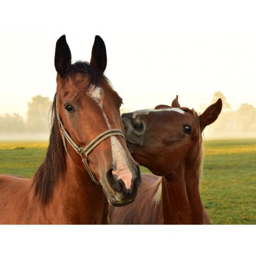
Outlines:
{"label": "raised brown head of the halterless horse nuzzling the other", "polygon": [[222,101],[218,99],[198,116],[196,111],[181,107],[177,96],[172,106],[159,105],[154,110],[124,113],[127,147],[140,165],[158,176],[166,176],[177,169],[185,157],[198,156],[201,133],[217,119],[221,108]]}

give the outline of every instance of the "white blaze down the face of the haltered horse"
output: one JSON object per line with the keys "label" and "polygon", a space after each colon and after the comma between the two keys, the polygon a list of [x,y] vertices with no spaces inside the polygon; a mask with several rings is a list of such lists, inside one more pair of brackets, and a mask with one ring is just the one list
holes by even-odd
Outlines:
{"label": "white blaze down the face of the haltered horse", "polygon": [[[103,110],[103,89],[101,87],[96,87],[93,85],[89,89],[88,95],[97,103],[106,121],[108,129],[111,129],[110,122],[108,121],[107,115]],[[116,167],[116,170],[113,170],[112,173],[117,176],[117,179],[122,179],[122,181],[125,183],[125,187],[129,189],[131,188],[132,173],[129,166],[127,165],[127,163],[129,163],[129,160],[127,159],[126,151],[122,147],[121,143],[117,140],[116,136],[111,136],[110,141],[113,166]]]}

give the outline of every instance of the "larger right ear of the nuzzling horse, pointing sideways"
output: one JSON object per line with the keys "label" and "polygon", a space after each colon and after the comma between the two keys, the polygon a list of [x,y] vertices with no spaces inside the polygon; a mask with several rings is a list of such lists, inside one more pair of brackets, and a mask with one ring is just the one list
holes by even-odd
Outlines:
{"label": "larger right ear of the nuzzling horse, pointing sideways", "polygon": [[205,112],[203,112],[202,115],[199,117],[202,130],[205,129],[207,125],[212,124],[217,119],[217,117],[220,115],[221,108],[222,101],[220,98],[214,104],[206,108]]}

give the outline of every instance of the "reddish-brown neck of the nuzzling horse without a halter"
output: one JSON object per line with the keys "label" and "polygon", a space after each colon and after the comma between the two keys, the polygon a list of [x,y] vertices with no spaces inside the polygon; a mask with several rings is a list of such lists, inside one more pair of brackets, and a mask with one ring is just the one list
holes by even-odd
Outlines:
{"label": "reddish-brown neck of the nuzzling horse without a halter", "polygon": [[164,224],[204,224],[200,197],[200,154],[201,147],[192,146],[178,167],[162,177]]}

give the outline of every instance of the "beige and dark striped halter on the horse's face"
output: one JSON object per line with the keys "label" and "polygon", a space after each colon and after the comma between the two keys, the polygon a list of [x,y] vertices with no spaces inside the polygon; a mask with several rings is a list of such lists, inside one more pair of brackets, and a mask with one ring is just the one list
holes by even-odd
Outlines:
{"label": "beige and dark striped halter on the horse's face", "polygon": [[[91,177],[92,181],[97,183],[97,184],[101,184],[96,177],[94,176],[94,174],[92,173],[91,168],[89,167],[89,163],[88,163],[88,154],[91,153],[91,151],[96,148],[96,146],[101,143],[103,140],[107,139],[110,136],[117,136],[120,135],[122,136],[122,138],[125,139],[125,135],[123,134],[123,132],[119,129],[110,129],[107,130],[105,132],[102,132],[102,134],[99,134],[95,139],[93,139],[89,144],[87,144],[87,146],[85,148],[82,148],[82,146],[78,146],[74,140],[72,140],[72,138],[69,136],[68,132],[65,130],[62,122],[61,122],[61,118],[59,115],[59,111],[58,111],[58,105],[57,105],[57,97],[56,97],[56,116],[57,116],[57,120],[58,120],[58,124],[60,126],[60,132],[61,132],[61,136],[62,136],[62,140],[63,140],[63,145],[65,150],[67,151],[68,155],[68,148],[67,148],[67,144],[66,144],[66,140],[68,140],[69,144],[72,145],[72,147],[74,148],[75,151],[77,151],[77,153],[80,155],[80,157],[82,158],[82,162],[84,163],[84,165],[86,165],[86,169],[88,170],[89,176]],[[83,158],[84,155],[84,158]],[[70,155],[69,155],[70,157]],[[70,157],[71,159],[71,157]]]}

